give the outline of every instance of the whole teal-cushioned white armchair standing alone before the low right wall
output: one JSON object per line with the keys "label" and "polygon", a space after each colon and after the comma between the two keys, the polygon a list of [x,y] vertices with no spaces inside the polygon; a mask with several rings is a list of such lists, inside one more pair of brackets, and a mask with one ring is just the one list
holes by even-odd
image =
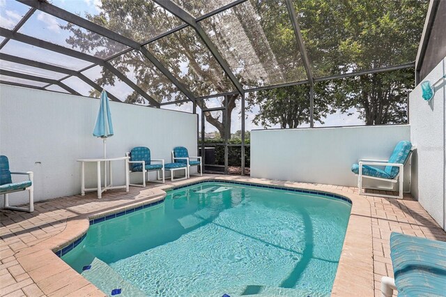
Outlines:
{"label": "whole teal-cushioned white armchair standing alone before the low right wall", "polygon": [[[351,171],[354,174],[357,174],[357,188],[359,188],[360,195],[403,199],[403,168],[404,165],[406,165],[406,162],[409,159],[413,149],[415,149],[415,146],[412,146],[410,142],[403,140],[399,142],[397,146],[395,146],[389,160],[360,159],[358,164],[353,164]],[[375,166],[385,168],[380,169]],[[399,183],[399,195],[394,196],[371,192],[366,194],[362,190],[362,178],[387,181],[390,183]]]}

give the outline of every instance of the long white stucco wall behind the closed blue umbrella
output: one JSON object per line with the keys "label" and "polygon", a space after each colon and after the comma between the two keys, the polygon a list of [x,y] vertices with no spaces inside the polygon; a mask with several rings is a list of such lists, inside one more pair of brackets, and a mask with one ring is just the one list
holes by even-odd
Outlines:
{"label": "long white stucco wall behind the closed blue umbrella", "polygon": [[[98,108],[91,98],[0,84],[0,153],[8,156],[11,170],[34,172],[35,201],[80,193],[76,160],[103,156],[102,139],[92,135]],[[148,146],[152,158],[166,162],[174,146],[197,155],[196,114],[118,102],[110,102],[110,109],[114,136],[107,139],[107,157],[123,156],[134,146]],[[94,185],[94,165],[86,173]],[[121,162],[114,165],[114,181],[124,182]],[[11,204],[26,197],[11,194]]]}

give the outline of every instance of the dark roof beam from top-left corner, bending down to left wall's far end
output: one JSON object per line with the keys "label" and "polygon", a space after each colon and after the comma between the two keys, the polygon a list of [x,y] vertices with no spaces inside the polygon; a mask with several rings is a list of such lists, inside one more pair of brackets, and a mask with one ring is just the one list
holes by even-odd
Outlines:
{"label": "dark roof beam from top-left corner, bending down to left wall's far end", "polygon": [[[28,6],[31,6],[33,8],[37,8],[38,10],[41,10],[45,13],[48,13],[49,15],[53,15],[54,17],[59,17],[62,20],[65,20],[66,22],[70,22],[72,24],[75,24],[77,26],[80,26],[84,29],[87,29],[89,31],[92,31],[94,33],[97,33],[101,36],[107,37],[109,39],[112,39],[118,43],[122,43],[123,45],[127,45],[128,47],[131,47],[134,50],[139,50],[141,54],[146,56],[146,58],[155,65],[155,67],[161,71],[163,75],[165,75],[181,92],[187,96],[190,100],[194,100],[195,96],[190,92],[183,84],[181,84],[178,79],[172,75],[172,73],[162,65],[160,61],[158,61],[153,54],[148,52],[145,47],[142,47],[139,43],[136,41],[127,38],[125,36],[122,36],[121,34],[118,34],[114,31],[111,31],[109,29],[106,29],[103,26],[99,26],[98,24],[95,24],[93,22],[90,22],[89,20],[85,20],[82,17],[79,17],[79,15],[75,15],[73,13],[69,13],[66,10],[63,10],[57,6],[54,6],[52,4],[49,4],[47,2],[42,1],[32,1],[32,0],[17,0],[20,1]],[[88,61],[88,60],[87,60]],[[93,62],[95,63],[95,62]],[[135,90],[137,91],[137,90]],[[145,92],[144,92],[145,93]],[[140,93],[141,96],[144,96]]]}

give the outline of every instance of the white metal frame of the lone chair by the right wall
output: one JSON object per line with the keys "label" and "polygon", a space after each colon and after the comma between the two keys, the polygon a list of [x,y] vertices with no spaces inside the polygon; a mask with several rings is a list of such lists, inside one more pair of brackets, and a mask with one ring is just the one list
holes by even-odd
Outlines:
{"label": "white metal frame of the lone chair by the right wall", "polygon": [[[406,158],[406,161],[401,163],[388,163],[388,160],[371,160],[371,159],[360,159],[358,162],[359,165],[359,174],[357,175],[357,188],[359,188],[360,195],[367,195],[367,196],[374,196],[374,197],[385,197],[385,198],[397,198],[397,199],[403,199],[403,185],[404,185],[404,166],[406,165],[407,161],[412,155],[413,150],[415,149],[415,146],[412,146],[410,148],[410,153],[408,157]],[[362,166],[363,165],[374,165],[374,166],[394,166],[399,167],[399,172],[397,176],[394,178],[380,178],[376,176],[368,176],[362,174]],[[398,196],[394,195],[385,195],[385,194],[375,194],[375,193],[366,193],[362,189],[362,178],[370,178],[377,181],[387,181],[390,183],[399,183],[399,190],[398,190]],[[382,190],[382,189],[376,189],[376,190]]]}

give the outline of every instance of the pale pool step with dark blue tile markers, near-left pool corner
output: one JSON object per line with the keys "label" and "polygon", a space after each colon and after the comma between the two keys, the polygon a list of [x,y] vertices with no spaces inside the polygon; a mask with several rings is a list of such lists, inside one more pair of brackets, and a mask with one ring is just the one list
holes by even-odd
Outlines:
{"label": "pale pool step with dark blue tile markers, near-left pool corner", "polygon": [[[112,292],[114,296],[118,297],[146,296],[137,287],[124,280],[112,267],[98,258],[94,258],[89,267],[84,268],[86,270],[82,271],[81,275],[108,296],[112,296]],[[119,289],[121,289],[121,293],[118,293]]]}

